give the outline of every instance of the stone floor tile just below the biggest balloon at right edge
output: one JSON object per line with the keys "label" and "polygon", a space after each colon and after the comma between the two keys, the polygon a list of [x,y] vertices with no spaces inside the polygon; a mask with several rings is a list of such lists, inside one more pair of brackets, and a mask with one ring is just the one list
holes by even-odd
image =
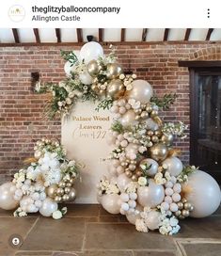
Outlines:
{"label": "stone floor tile just below the biggest balloon at right edge", "polygon": [[205,218],[186,218],[181,221],[181,231],[174,237],[184,238],[220,238],[221,218],[210,216]]}

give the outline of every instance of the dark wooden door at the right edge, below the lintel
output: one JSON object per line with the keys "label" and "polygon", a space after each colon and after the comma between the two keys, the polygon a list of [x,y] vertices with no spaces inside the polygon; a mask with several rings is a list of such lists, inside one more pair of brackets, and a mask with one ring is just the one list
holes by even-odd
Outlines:
{"label": "dark wooden door at the right edge, below the lintel", "polygon": [[221,69],[190,69],[190,164],[221,184]]}

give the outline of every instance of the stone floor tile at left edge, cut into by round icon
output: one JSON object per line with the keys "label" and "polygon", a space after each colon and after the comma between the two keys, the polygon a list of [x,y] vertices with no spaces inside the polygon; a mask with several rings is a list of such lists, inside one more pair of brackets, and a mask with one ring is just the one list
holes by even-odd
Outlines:
{"label": "stone floor tile at left edge, cut into by round icon", "polygon": [[0,217],[0,249],[15,251],[8,244],[9,237],[19,234],[24,239],[36,220],[36,217]]}

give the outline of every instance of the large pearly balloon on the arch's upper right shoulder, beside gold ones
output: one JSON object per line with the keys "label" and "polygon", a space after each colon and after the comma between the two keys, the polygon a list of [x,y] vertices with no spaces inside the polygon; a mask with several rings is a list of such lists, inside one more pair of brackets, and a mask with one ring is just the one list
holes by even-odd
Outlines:
{"label": "large pearly balloon on the arch's upper right shoulder, beside gold ones", "polygon": [[145,80],[134,80],[133,89],[128,92],[129,98],[147,104],[150,102],[153,90],[150,84]]}

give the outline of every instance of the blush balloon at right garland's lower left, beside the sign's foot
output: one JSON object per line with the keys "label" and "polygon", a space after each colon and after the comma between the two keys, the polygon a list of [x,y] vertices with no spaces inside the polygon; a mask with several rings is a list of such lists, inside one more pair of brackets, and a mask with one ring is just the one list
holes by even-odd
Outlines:
{"label": "blush balloon at right garland's lower left, beside the sign's foot", "polygon": [[119,200],[120,198],[117,194],[103,195],[103,208],[112,215],[118,215],[120,208]]}

